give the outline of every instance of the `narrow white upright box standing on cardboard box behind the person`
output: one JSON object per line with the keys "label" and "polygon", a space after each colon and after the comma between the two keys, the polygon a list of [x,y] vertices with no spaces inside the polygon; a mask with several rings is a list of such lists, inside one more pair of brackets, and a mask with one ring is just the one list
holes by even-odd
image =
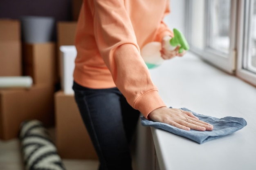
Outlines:
{"label": "narrow white upright box standing on cardboard box behind the person", "polygon": [[75,68],[76,47],[75,46],[61,46],[61,90],[65,94],[74,94],[73,73]]}

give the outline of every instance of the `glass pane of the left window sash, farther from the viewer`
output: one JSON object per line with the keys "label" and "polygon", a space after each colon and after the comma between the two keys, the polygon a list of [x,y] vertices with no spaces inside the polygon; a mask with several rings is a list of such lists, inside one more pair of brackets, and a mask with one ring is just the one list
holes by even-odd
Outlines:
{"label": "glass pane of the left window sash, farther from the viewer", "polygon": [[229,53],[229,24],[231,0],[211,0],[209,47]]}

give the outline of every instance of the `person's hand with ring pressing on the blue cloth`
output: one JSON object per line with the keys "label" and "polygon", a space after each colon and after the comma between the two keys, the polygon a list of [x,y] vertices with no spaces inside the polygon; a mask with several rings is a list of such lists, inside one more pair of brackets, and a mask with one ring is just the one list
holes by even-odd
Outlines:
{"label": "person's hand with ring pressing on the blue cloth", "polygon": [[153,121],[170,124],[171,126],[184,130],[213,130],[213,126],[211,124],[199,120],[198,117],[195,117],[191,112],[177,108],[157,108],[149,113],[148,118]]}

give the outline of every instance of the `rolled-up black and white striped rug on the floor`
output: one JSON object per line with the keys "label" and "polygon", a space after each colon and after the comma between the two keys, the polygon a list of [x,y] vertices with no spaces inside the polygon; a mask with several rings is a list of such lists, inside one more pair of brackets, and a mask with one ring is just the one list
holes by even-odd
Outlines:
{"label": "rolled-up black and white striped rug on the floor", "polygon": [[65,170],[56,146],[42,122],[23,121],[19,136],[25,170]]}

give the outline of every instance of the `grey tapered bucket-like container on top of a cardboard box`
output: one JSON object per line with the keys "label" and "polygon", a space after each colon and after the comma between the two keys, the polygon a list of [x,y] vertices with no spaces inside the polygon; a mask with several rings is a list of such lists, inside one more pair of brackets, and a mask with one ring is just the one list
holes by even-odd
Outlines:
{"label": "grey tapered bucket-like container on top of a cardboard box", "polygon": [[27,43],[45,43],[52,41],[54,18],[23,16],[21,18],[22,40]]}

